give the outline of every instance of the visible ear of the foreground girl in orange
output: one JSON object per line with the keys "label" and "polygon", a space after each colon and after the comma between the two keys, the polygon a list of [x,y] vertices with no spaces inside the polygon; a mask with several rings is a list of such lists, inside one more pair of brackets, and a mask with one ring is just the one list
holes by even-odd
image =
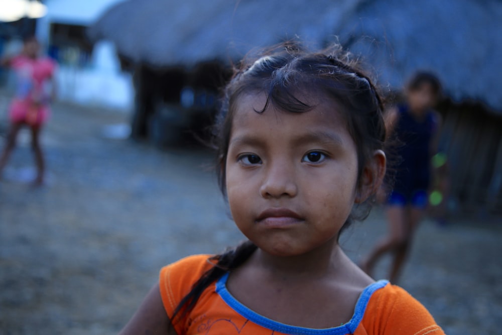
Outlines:
{"label": "visible ear of the foreground girl in orange", "polygon": [[387,158],[382,150],[373,152],[373,156],[362,170],[361,180],[354,199],[355,203],[364,202],[382,185],[385,176]]}

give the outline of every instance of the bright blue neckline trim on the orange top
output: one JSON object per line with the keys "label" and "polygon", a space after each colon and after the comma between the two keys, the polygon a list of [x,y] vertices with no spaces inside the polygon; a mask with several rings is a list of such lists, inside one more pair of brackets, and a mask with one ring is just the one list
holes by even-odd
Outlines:
{"label": "bright blue neckline trim on the orange top", "polygon": [[388,280],[379,280],[369,286],[367,286],[360,294],[357,299],[357,303],[354,308],[354,314],[352,318],[347,323],[340,325],[334,328],[325,328],[325,329],[314,329],[314,328],[304,328],[288,325],[285,323],[277,322],[272,319],[269,319],[263,315],[258,314],[257,312],[247,308],[242,303],[240,303],[237,299],[235,299],[230,292],[226,289],[226,281],[228,280],[228,272],[225,273],[218,281],[216,282],[216,293],[225,301],[225,303],[230,306],[237,313],[242,315],[243,317],[249,319],[252,322],[255,322],[262,327],[279,331],[286,334],[298,334],[298,335],[344,335],[347,333],[353,333],[355,328],[359,325],[364,316],[364,311],[366,310],[366,306],[368,304],[369,298],[371,295],[378,289],[386,286],[389,281]]}

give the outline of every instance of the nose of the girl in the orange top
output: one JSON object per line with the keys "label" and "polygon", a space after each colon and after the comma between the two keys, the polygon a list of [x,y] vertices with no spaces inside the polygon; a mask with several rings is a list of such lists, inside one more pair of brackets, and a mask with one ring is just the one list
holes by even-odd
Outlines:
{"label": "nose of the girl in the orange top", "polygon": [[270,164],[265,171],[260,195],[264,198],[294,197],[298,193],[295,169],[289,164]]}

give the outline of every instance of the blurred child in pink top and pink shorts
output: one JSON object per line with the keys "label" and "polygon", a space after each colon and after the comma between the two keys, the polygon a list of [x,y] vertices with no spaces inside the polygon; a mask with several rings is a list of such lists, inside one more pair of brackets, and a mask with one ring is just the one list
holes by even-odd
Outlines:
{"label": "blurred child in pink top and pink shorts", "polygon": [[40,147],[40,130],[49,117],[49,102],[54,97],[53,80],[55,63],[46,57],[39,56],[39,44],[35,37],[24,40],[23,52],[14,58],[0,60],[0,65],[10,66],[17,75],[17,90],[10,109],[11,129],[7,143],[0,156],[0,176],[7,164],[16,138],[23,126],[30,127],[32,148],[37,165],[35,185],[44,181],[44,157]]}

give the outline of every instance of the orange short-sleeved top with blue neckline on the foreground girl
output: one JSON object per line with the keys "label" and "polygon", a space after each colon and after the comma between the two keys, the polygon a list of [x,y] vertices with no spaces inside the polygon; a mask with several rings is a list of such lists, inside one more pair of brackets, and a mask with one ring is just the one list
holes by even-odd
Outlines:
{"label": "orange short-sleeved top with blue neckline on the foreground girl", "polygon": [[[173,312],[201,275],[211,268],[210,256],[197,255],[162,268],[160,293],[167,315]],[[173,320],[179,335],[439,335],[443,330],[427,309],[402,288],[378,281],[361,293],[349,322],[328,329],[291,326],[264,317],[240,302],[226,289],[225,274],[209,285],[195,307]]]}

